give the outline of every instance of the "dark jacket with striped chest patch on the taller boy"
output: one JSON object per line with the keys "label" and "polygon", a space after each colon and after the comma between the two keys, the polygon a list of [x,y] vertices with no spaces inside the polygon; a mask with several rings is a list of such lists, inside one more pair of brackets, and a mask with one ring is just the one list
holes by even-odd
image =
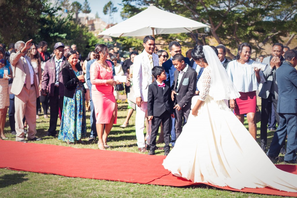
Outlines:
{"label": "dark jacket with striped chest patch on the taller boy", "polygon": [[174,81],[171,86],[171,90],[176,92],[175,103],[177,103],[181,108],[191,108],[191,100],[196,91],[197,72],[192,67],[188,67],[187,71],[181,78],[181,81],[178,83],[178,90],[176,90],[178,73],[178,70],[174,72]]}

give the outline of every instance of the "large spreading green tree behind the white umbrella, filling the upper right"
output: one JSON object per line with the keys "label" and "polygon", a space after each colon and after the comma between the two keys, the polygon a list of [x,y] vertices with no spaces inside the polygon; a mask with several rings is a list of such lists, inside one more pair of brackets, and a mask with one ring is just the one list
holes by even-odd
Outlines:
{"label": "large spreading green tree behind the white umbrella, filling the upper right", "polygon": [[[254,51],[261,51],[266,43],[281,42],[282,36],[296,33],[296,0],[123,0],[123,10],[130,16],[136,7],[155,6],[191,18],[210,23],[211,36],[219,43],[237,48],[248,42]],[[140,6],[141,5],[141,6]],[[134,12],[134,13],[133,13]],[[170,20],[170,19],[168,19]],[[195,33],[203,33],[198,29]],[[163,36],[163,35],[162,35]],[[194,34],[192,35],[194,39]],[[198,42],[199,43],[199,42]],[[200,43],[203,43],[200,41]],[[232,51],[227,48],[229,56]]]}

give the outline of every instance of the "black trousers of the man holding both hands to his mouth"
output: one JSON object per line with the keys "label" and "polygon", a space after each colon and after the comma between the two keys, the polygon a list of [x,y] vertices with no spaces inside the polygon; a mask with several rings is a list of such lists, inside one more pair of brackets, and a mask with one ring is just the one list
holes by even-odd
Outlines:
{"label": "black trousers of the man holding both hands to his mouth", "polygon": [[277,125],[279,125],[279,114],[277,113],[277,100],[275,99],[275,95],[270,93],[268,98],[262,98],[261,102],[261,127],[260,127],[260,139],[261,139],[261,147],[267,146],[267,125],[269,115],[271,114],[271,103],[274,106],[275,118],[277,120]]}

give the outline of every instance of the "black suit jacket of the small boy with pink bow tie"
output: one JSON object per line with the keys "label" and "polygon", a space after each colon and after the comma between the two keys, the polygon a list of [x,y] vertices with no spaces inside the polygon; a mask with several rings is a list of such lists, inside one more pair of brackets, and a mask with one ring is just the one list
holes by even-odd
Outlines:
{"label": "black suit jacket of the small boy with pink bow tie", "polygon": [[173,103],[171,100],[170,83],[163,81],[165,87],[159,87],[154,81],[149,85],[148,90],[148,116],[160,116],[166,110],[173,113]]}

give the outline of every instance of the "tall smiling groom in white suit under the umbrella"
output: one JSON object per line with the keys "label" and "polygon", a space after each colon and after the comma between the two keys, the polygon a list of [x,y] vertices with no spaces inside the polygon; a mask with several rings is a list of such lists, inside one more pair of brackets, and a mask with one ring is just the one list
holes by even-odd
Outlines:
{"label": "tall smiling groom in white suit under the umbrella", "polygon": [[[147,149],[143,129],[144,119],[148,117],[147,101],[149,85],[154,81],[151,69],[154,66],[159,66],[159,57],[154,54],[155,39],[152,36],[146,36],[143,39],[144,50],[141,54],[135,56],[133,63],[133,87],[136,97],[136,118],[135,118],[135,131],[137,146],[140,152],[146,152]],[[147,142],[151,139],[151,121],[149,121],[149,131],[147,131]]]}

